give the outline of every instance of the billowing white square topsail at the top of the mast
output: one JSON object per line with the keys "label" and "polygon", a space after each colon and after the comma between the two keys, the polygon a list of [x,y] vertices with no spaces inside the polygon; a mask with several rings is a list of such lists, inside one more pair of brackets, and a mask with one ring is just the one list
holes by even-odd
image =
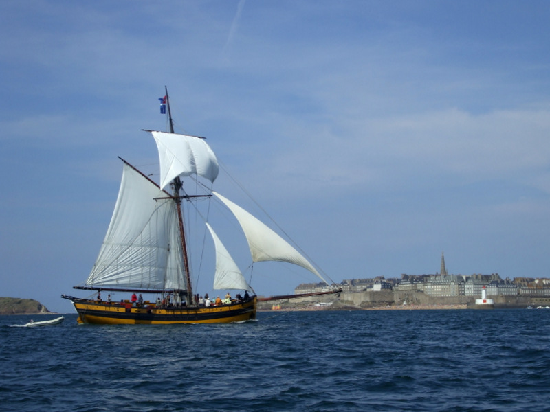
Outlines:
{"label": "billowing white square topsail at the top of the mast", "polygon": [[218,160],[204,139],[154,131],[151,135],[155,138],[159,151],[162,189],[178,176],[198,174],[212,183],[217,178]]}

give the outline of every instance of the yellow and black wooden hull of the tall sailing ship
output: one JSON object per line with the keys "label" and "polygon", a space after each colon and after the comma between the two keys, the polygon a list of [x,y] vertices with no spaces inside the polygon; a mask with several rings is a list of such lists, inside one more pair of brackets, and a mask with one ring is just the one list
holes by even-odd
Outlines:
{"label": "yellow and black wooden hull of the tall sailing ship", "polygon": [[223,306],[184,306],[181,308],[142,307],[106,304],[74,299],[78,323],[101,325],[172,325],[177,323],[231,323],[256,319],[256,297]]}

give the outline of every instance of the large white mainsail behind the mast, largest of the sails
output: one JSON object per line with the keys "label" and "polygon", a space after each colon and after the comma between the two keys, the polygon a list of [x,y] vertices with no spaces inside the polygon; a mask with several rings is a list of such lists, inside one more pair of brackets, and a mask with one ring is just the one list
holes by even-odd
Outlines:
{"label": "large white mainsail behind the mast, largest of the sails", "polygon": [[186,289],[177,209],[167,196],[124,163],[113,217],[87,285]]}

